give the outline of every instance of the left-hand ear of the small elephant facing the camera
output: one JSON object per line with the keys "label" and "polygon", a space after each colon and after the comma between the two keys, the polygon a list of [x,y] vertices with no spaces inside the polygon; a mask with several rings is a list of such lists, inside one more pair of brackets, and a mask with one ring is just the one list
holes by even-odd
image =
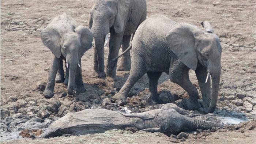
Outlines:
{"label": "left-hand ear of the small elephant facing the camera", "polygon": [[55,24],[50,24],[45,27],[45,29],[41,31],[41,39],[43,44],[52,51],[54,56],[60,58],[60,34],[56,27],[58,26]]}

